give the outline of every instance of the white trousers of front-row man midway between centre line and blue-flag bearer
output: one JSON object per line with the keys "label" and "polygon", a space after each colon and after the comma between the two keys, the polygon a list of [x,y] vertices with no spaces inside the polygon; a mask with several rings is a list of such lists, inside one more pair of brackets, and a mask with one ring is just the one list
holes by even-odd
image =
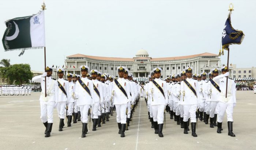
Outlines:
{"label": "white trousers of front-row man midway between centre line and blue-flag bearer", "polygon": [[184,115],[183,121],[187,122],[190,116],[190,122],[196,122],[196,109],[197,104],[194,105],[183,105]]}

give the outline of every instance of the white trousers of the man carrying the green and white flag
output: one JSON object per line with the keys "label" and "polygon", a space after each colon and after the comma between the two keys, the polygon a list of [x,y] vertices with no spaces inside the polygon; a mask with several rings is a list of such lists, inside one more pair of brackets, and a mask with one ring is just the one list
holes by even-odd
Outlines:
{"label": "white trousers of the man carrying the green and white flag", "polygon": [[42,123],[53,123],[54,101],[40,101]]}

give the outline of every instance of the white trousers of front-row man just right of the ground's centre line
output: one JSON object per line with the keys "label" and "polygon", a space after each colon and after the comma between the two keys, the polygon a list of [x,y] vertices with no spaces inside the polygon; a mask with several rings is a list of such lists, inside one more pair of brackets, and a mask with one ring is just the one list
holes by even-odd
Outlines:
{"label": "white trousers of front-row man just right of the ground's centre line", "polygon": [[152,105],[153,120],[157,121],[157,124],[163,123],[163,112],[165,111],[165,105]]}

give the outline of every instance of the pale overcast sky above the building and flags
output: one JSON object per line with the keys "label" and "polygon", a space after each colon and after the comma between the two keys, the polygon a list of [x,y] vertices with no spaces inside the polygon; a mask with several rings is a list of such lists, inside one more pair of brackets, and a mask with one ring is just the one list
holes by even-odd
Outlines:
{"label": "pale overcast sky above the building and flags", "polygon": [[[43,0],[0,0],[4,21],[36,14]],[[132,58],[140,49],[150,57],[218,54],[229,4],[232,26],[244,31],[241,45],[230,46],[230,64],[256,66],[255,0],[45,0],[46,65],[64,64],[73,54]],[[2,42],[1,42],[2,43]],[[0,60],[44,70],[44,50],[4,51]],[[226,64],[227,51],[221,56]]]}

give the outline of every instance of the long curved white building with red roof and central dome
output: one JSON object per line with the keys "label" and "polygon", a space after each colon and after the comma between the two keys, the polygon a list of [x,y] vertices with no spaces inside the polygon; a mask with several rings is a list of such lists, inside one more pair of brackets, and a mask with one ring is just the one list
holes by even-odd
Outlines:
{"label": "long curved white building with red roof and central dome", "polygon": [[[155,67],[163,69],[161,78],[181,72],[184,68],[191,66],[194,73],[209,72],[210,69],[220,66],[220,58],[216,54],[203,53],[180,57],[149,57],[146,50],[139,50],[133,58],[99,57],[83,54],[74,54],[65,59],[65,74],[80,74],[79,67],[87,65],[90,69],[96,69],[102,73],[118,76],[116,68],[125,66],[134,77],[147,77],[148,73]],[[57,73],[53,73],[57,78]]]}

